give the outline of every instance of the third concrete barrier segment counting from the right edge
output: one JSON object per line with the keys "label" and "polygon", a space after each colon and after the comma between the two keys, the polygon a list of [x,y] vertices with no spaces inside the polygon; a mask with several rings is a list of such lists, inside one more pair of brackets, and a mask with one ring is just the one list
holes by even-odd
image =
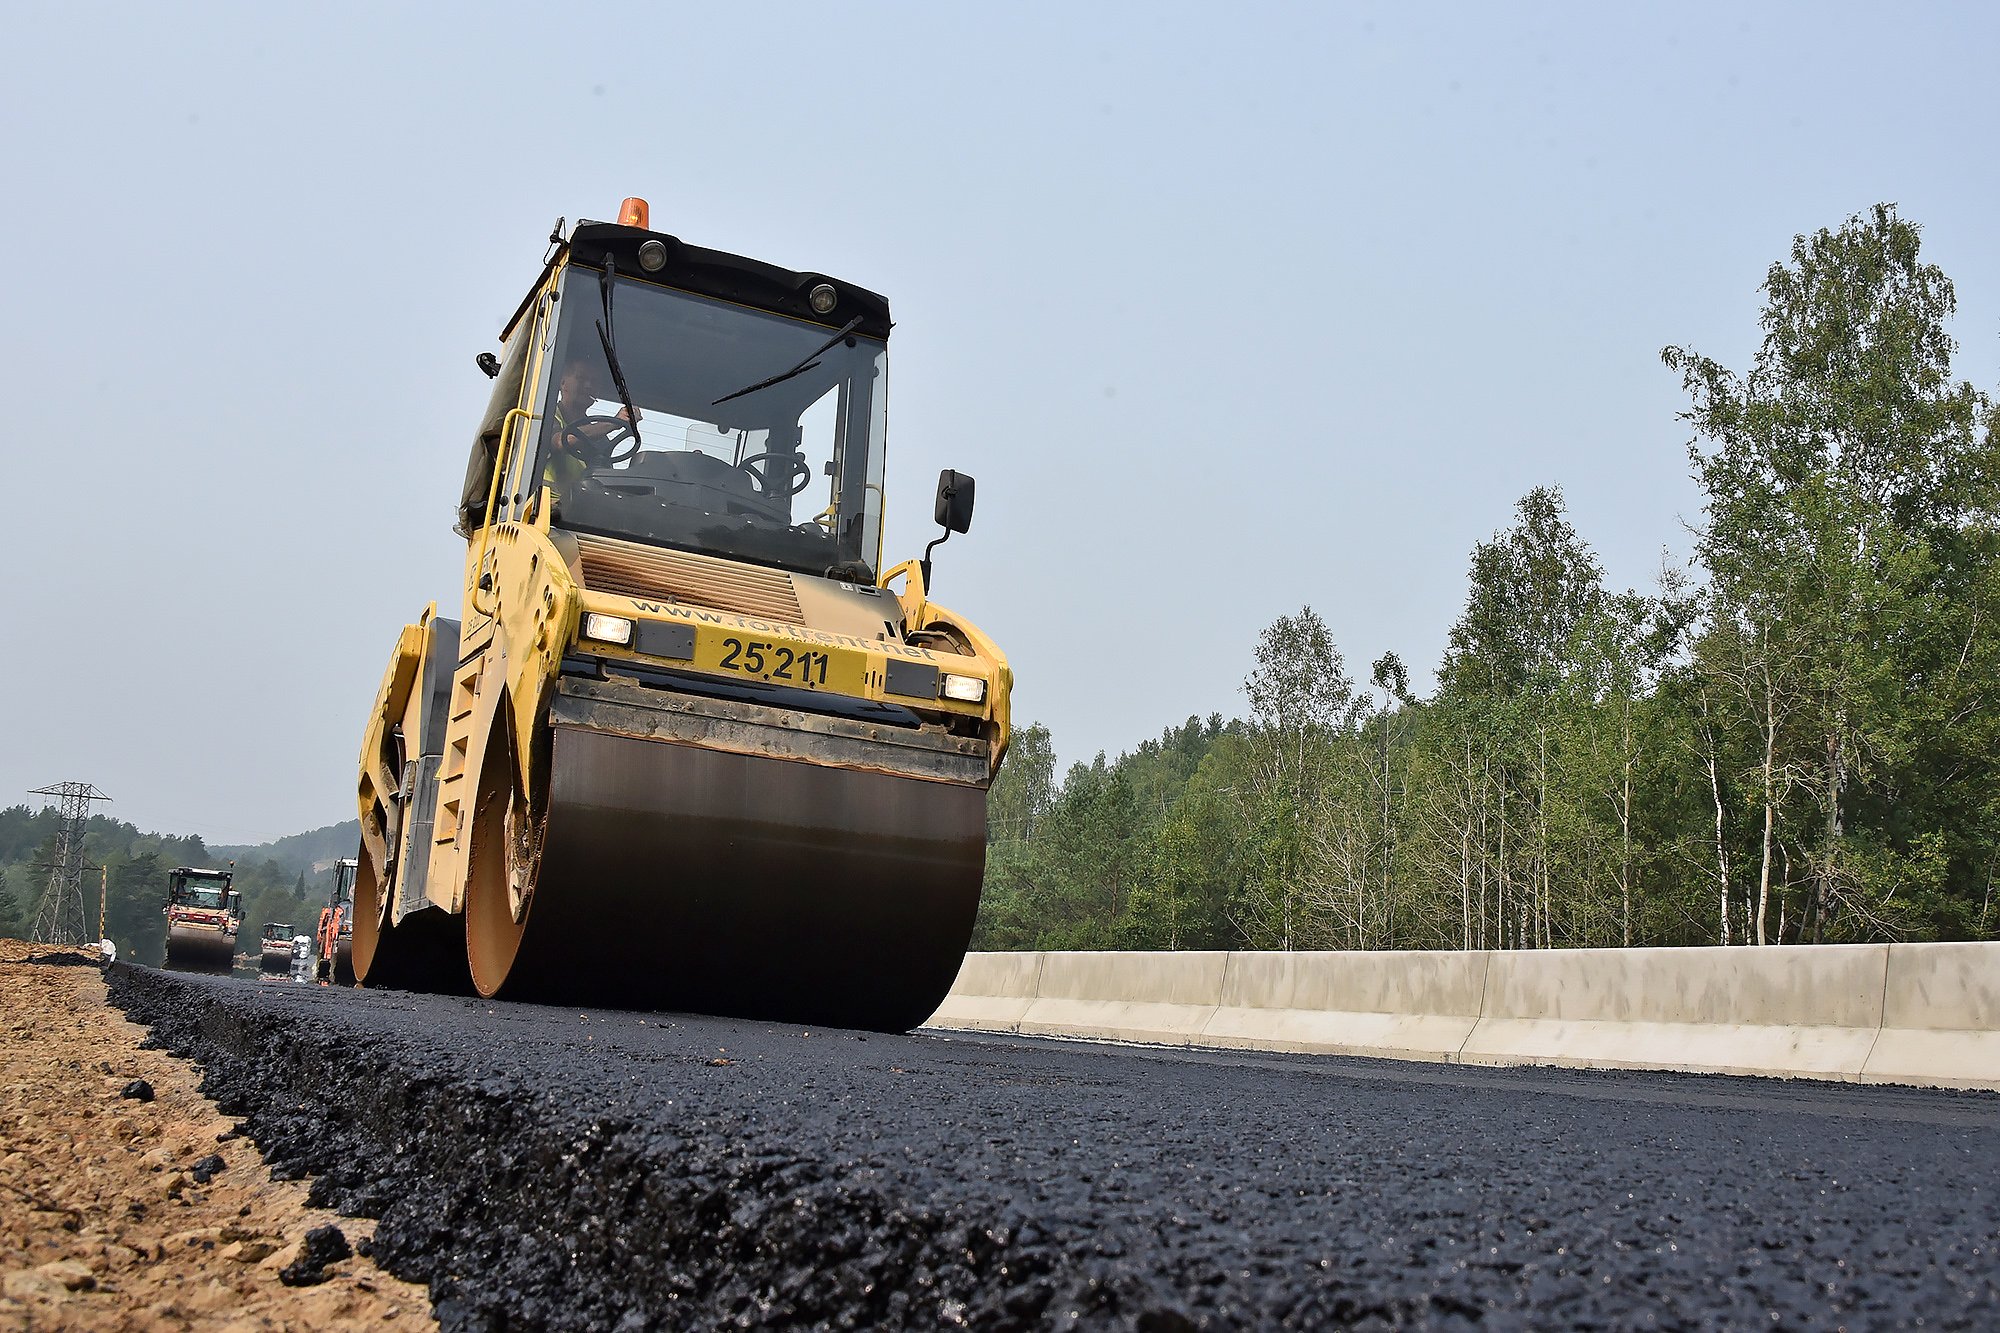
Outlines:
{"label": "third concrete barrier segment counting from the right edge", "polygon": [[1480,1017],[1484,953],[1232,953],[1204,1047],[1458,1057]]}

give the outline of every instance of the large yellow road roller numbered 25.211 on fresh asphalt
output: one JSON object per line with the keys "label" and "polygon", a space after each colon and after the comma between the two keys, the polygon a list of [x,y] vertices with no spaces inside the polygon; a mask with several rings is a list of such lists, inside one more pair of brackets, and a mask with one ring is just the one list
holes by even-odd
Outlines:
{"label": "large yellow road roller numbered 25.211 on fresh asphalt", "polygon": [[362,985],[902,1031],[978,913],[1006,656],[882,558],[888,302],[558,220],[478,356],[458,616],[360,751]]}

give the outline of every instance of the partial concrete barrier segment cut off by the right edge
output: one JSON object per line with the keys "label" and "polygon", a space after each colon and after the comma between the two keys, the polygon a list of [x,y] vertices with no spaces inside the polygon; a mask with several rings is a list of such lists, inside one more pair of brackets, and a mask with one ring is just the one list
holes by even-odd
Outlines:
{"label": "partial concrete barrier segment cut off by the right edge", "polygon": [[1890,945],[1862,1083],[2000,1089],[2000,945]]}

